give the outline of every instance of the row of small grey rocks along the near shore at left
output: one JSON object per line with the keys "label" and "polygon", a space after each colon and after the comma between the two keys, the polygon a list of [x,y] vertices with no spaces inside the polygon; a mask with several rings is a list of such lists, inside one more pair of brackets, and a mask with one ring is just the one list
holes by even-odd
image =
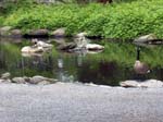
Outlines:
{"label": "row of small grey rocks along the near shore at left", "polygon": [[36,75],[36,76],[33,76],[33,77],[27,77],[27,76],[13,77],[13,78],[10,78],[10,77],[11,77],[10,73],[2,74],[1,77],[0,77],[0,83],[48,85],[48,84],[53,84],[53,83],[58,82],[58,80],[48,78],[48,77],[43,77],[43,76],[40,76],[40,75]]}

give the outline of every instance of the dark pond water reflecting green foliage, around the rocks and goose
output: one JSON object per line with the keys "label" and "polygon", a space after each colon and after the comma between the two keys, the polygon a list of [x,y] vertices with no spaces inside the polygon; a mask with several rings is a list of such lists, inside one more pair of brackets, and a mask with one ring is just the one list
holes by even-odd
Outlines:
{"label": "dark pond water reflecting green foliage, around the rocks and goose", "polygon": [[[72,40],[72,39],[71,39]],[[151,72],[137,75],[134,71],[136,46],[131,42],[101,40],[105,47],[100,53],[67,53],[54,48],[42,56],[22,56],[21,48],[29,45],[28,39],[0,39],[0,74],[10,72],[14,76],[43,75],[61,82],[83,82],[117,86],[120,82],[135,78],[155,78],[163,81],[163,46],[141,47],[140,60]],[[70,41],[70,40],[68,40]],[[93,41],[93,40],[92,40]],[[99,41],[98,41],[99,42]]]}

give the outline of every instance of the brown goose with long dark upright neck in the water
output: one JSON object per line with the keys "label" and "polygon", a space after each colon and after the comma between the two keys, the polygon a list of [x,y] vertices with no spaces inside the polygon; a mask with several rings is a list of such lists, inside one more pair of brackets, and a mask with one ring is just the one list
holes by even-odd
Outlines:
{"label": "brown goose with long dark upright neck in the water", "polygon": [[137,47],[137,59],[134,64],[134,70],[137,74],[147,74],[150,73],[148,64],[140,61],[140,47]]}

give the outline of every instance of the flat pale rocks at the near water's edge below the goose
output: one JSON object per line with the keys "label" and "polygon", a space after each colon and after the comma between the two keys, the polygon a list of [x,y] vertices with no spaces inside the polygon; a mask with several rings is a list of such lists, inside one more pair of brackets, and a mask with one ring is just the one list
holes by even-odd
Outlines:
{"label": "flat pale rocks at the near water's edge below the goose", "polygon": [[163,82],[158,80],[147,80],[145,82],[138,81],[125,81],[120,83],[123,87],[147,87],[147,88],[159,88],[163,87]]}

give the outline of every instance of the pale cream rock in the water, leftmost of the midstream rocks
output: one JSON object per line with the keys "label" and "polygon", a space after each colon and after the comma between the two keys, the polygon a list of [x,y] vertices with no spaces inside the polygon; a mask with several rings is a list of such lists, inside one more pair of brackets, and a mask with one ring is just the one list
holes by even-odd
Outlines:
{"label": "pale cream rock in the water, leftmost of the midstream rocks", "polygon": [[22,48],[21,50],[23,53],[39,53],[39,52],[43,52],[43,48],[42,47],[30,47],[30,46],[25,46]]}

